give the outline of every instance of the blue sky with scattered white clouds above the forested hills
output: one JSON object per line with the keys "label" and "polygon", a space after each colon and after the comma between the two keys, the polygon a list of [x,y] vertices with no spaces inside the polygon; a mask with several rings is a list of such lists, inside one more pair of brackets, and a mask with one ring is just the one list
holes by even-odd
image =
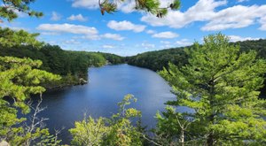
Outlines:
{"label": "blue sky with scattered white clouds above the forested hills", "polygon": [[[160,0],[161,6],[171,0]],[[44,13],[29,18],[20,13],[1,27],[40,33],[39,40],[64,50],[102,51],[131,56],[137,53],[202,42],[222,32],[231,42],[266,38],[266,0],[181,0],[180,11],[158,19],[134,12],[133,3],[118,3],[119,12],[98,10],[98,0],[36,0],[31,7]]]}

